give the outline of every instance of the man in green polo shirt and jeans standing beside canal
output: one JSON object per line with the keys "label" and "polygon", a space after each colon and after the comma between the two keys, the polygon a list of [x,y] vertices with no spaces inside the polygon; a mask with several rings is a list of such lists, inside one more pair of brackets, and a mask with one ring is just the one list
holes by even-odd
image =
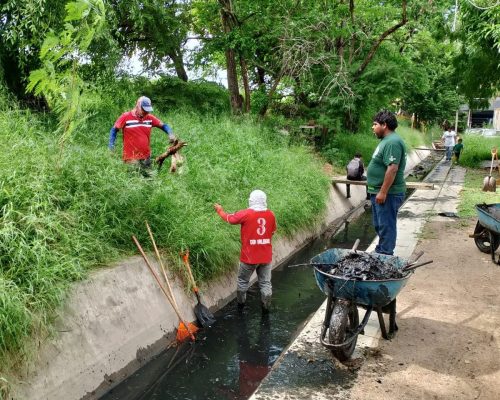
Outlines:
{"label": "man in green polo shirt and jeans standing beside canal", "polygon": [[397,126],[396,116],[390,111],[380,111],[373,117],[373,133],[381,141],[367,170],[373,226],[379,237],[375,252],[389,255],[394,254],[396,247],[397,215],[406,191],[406,148],[395,132]]}

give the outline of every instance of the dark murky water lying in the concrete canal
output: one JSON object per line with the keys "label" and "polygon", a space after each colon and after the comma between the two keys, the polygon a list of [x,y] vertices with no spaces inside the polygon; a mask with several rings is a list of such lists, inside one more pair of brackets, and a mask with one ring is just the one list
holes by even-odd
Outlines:
{"label": "dark murky water lying in the concrete canal", "polygon": [[[273,271],[273,306],[260,309],[258,287],[247,307],[235,301],[216,313],[217,323],[200,331],[197,341],[169,349],[101,400],[247,399],[267,375],[298,329],[325,300],[307,263],[329,247],[350,248],[356,238],[366,249],[375,237],[371,212],[347,222],[337,234],[327,231]],[[319,334],[319,332],[318,332]],[[326,351],[326,350],[325,350]]]}

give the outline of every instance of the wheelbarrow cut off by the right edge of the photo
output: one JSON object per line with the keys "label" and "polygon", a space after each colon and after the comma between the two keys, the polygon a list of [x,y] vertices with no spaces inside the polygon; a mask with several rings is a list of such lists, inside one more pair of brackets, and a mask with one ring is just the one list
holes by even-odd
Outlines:
{"label": "wheelbarrow cut off by the right edge of the photo", "polygon": [[495,261],[495,251],[500,246],[500,203],[476,204],[478,221],[474,233],[477,248],[483,253],[490,253],[491,259],[500,265],[500,256]]}

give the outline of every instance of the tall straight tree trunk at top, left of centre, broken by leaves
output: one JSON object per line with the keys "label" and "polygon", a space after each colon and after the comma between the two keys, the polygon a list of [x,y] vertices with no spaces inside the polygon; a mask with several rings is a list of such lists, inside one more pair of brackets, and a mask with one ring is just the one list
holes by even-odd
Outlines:
{"label": "tall straight tree trunk at top, left of centre, broken by leaves", "polygon": [[[221,19],[222,28],[224,32],[230,33],[234,26],[232,23],[232,2],[231,0],[219,0],[219,5],[221,6]],[[240,91],[238,88],[238,74],[236,71],[236,57],[234,49],[226,48],[226,69],[227,69],[227,87],[229,89],[229,99],[231,103],[231,111],[233,114],[240,114],[242,108],[242,101],[240,96]]]}

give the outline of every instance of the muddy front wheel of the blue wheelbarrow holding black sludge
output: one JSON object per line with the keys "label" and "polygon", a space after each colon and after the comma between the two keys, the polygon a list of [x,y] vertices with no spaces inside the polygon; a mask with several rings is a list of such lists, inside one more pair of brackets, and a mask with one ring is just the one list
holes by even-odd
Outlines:
{"label": "muddy front wheel of the blue wheelbarrow holding black sludge", "polygon": [[[335,300],[330,318],[329,340],[331,344],[340,344],[352,338],[359,325],[359,314],[356,304],[344,299]],[[332,348],[333,356],[339,361],[346,361],[356,348],[357,337],[341,347]]]}

